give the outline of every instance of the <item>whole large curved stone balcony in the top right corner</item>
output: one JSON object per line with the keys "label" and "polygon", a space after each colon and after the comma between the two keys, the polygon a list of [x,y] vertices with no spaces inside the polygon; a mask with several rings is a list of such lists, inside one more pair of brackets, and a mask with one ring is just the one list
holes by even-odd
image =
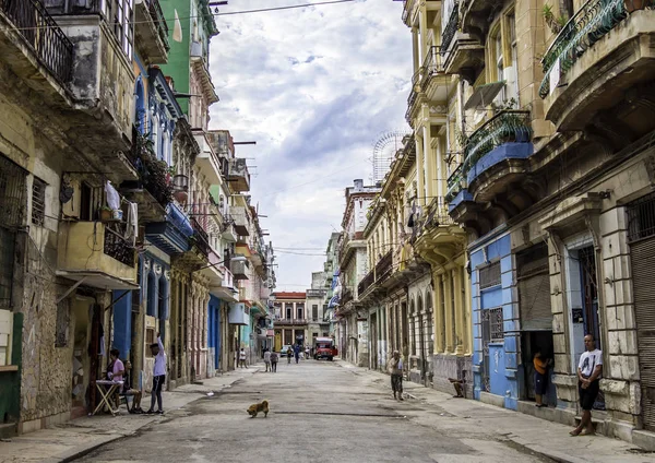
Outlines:
{"label": "whole large curved stone balcony in the top right corner", "polygon": [[652,2],[632,12],[626,4],[584,3],[546,51],[539,86],[559,131],[590,128],[615,150],[653,130],[655,119],[655,11]]}

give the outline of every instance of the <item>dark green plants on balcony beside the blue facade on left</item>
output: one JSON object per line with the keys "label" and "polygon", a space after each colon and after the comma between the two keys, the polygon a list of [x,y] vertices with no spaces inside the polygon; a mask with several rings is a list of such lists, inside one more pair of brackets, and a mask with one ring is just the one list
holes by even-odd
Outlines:
{"label": "dark green plants on balcony beside the blue facade on left", "polygon": [[132,163],[136,167],[141,183],[159,204],[166,206],[172,201],[172,185],[168,164],[157,159],[153,150],[153,141],[148,134],[142,134],[134,130],[132,140]]}

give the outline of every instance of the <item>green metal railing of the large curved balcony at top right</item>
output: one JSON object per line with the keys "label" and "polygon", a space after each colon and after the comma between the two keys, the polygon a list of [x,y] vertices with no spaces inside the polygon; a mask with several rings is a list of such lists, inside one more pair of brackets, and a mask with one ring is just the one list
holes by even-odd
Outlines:
{"label": "green metal railing of the large curved balcony at top right", "polygon": [[541,66],[539,96],[550,93],[550,73],[559,61],[560,74],[568,72],[584,52],[628,16],[624,0],[588,0],[571,17],[550,45]]}

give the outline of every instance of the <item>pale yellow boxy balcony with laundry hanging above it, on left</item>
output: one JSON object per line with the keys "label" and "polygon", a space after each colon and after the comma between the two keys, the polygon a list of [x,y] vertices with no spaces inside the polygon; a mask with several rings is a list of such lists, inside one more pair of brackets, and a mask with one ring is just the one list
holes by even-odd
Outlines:
{"label": "pale yellow boxy balcony with laundry hanging above it, on left", "polygon": [[136,251],[126,234],[122,222],[62,223],[57,275],[106,290],[138,288]]}

